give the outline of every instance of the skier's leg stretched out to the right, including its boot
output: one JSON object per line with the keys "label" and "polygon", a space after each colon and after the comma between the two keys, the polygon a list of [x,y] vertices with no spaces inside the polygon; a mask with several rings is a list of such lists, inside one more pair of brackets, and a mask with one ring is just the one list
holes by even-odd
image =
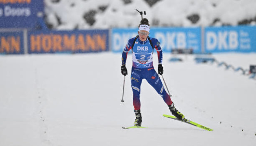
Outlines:
{"label": "skier's leg stretched out to the right, including its boot", "polygon": [[171,114],[176,116],[178,119],[184,119],[185,116],[174,107],[174,103],[171,101],[171,97],[169,96],[169,94],[165,91],[163,83],[161,82],[161,79],[156,71],[154,69],[149,70],[145,79],[163,98],[165,103],[168,105]]}

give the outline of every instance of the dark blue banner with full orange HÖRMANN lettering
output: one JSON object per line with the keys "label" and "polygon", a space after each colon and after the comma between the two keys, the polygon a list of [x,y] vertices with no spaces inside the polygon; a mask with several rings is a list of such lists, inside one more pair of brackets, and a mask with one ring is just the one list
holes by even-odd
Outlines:
{"label": "dark blue banner with full orange H\u00d6RMANN lettering", "polygon": [[103,52],[108,40],[108,30],[30,31],[28,53]]}

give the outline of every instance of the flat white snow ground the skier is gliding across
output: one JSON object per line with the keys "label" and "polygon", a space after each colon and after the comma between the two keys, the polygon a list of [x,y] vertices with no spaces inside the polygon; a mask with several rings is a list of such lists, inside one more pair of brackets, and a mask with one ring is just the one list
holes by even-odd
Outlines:
{"label": "flat white snow ground the skier is gliding across", "polygon": [[[219,61],[249,67],[256,54],[215,54]],[[255,79],[240,72],[196,64],[195,56],[169,62],[164,78],[178,110],[214,129],[165,118],[167,105],[145,81],[142,126],[133,125],[128,54],[124,89],[121,54],[0,56],[0,146],[255,146]],[[237,60],[241,64],[236,64]],[[157,55],[154,66],[157,70]]]}

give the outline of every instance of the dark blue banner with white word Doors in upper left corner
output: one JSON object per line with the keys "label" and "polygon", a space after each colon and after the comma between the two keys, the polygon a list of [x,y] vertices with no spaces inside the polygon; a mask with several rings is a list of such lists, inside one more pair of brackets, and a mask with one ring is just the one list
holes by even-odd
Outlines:
{"label": "dark blue banner with white word Doors in upper left corner", "polygon": [[43,0],[0,0],[0,28],[33,28],[43,7]]}

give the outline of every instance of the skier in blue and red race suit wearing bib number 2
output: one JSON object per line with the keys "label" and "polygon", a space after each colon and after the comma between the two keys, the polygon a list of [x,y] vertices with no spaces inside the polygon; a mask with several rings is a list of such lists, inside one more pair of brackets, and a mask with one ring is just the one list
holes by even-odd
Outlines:
{"label": "skier in blue and red race suit wearing bib number 2", "polygon": [[[139,35],[129,39],[127,45],[124,48],[121,59],[121,73],[126,76],[128,75],[126,69],[127,54],[132,49],[132,73],[130,79],[132,83],[133,106],[136,116],[134,126],[141,126],[142,122],[140,110],[140,92],[142,79],[146,79],[148,83],[156,90],[156,92],[160,94],[174,116],[176,116],[178,119],[185,118],[184,115],[174,107],[174,103],[171,101],[171,97],[165,91],[161,79],[158,76],[158,74],[163,75],[163,52],[159,41],[148,36],[149,32],[150,24],[148,19],[143,18],[139,24]],[[153,49],[156,49],[158,55],[158,74],[153,67]]]}

